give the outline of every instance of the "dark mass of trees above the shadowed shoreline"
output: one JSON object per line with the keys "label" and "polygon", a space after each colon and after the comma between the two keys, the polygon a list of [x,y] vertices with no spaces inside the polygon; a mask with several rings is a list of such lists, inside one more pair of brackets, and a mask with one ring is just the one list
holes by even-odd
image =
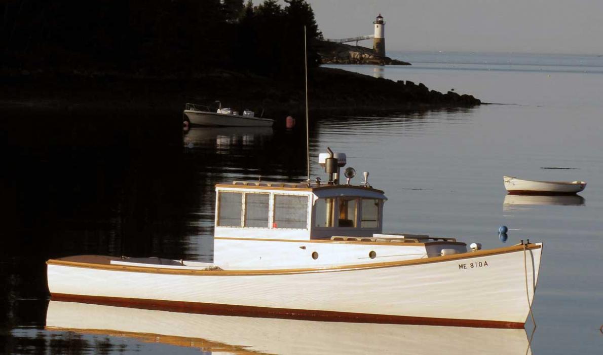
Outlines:
{"label": "dark mass of trees above the shadowed shoreline", "polygon": [[303,71],[303,27],[310,42],[322,37],[306,0],[3,0],[0,10],[4,68],[287,78]]}

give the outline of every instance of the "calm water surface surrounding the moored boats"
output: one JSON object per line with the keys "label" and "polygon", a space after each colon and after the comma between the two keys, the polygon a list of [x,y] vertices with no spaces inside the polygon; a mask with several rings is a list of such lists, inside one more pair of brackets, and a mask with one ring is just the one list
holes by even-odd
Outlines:
{"label": "calm water surface surrounding the moored boats", "polygon": [[[194,129],[181,136],[178,112],[81,117],[0,108],[6,123],[0,138],[7,146],[0,155],[0,351],[434,354],[446,347],[453,354],[599,354],[603,58],[390,55],[414,65],[341,68],[501,104],[320,117],[311,127],[312,174],[323,176],[315,157],[327,146],[347,153],[359,176],[370,171],[371,184],[389,198],[384,231],[459,237],[493,248],[503,245],[498,226],[507,225],[507,245],[543,241],[533,334],[531,322],[518,333],[48,307],[44,261],[51,257],[211,260],[213,184],[260,175],[303,179],[305,135],[301,129]],[[588,185],[581,197],[510,198],[505,174]],[[103,317],[122,328],[47,330],[47,307],[49,327],[81,328],[77,319]],[[145,327],[151,324],[172,337],[149,336],[153,331]],[[188,332],[169,331],[174,329]]]}

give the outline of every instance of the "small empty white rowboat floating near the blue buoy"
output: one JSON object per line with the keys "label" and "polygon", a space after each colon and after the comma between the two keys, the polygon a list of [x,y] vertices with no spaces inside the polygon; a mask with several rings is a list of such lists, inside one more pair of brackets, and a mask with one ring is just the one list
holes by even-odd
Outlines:
{"label": "small empty white rowboat floating near the blue buoy", "polygon": [[504,176],[505,188],[510,194],[575,194],[584,190],[585,181],[534,181]]}

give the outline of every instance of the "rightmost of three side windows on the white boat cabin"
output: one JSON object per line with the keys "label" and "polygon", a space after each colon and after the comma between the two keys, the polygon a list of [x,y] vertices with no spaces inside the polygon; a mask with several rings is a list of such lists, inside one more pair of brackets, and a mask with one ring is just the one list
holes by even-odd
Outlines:
{"label": "rightmost of three side windows on the white boat cabin", "polygon": [[308,196],[275,194],[273,228],[308,228]]}

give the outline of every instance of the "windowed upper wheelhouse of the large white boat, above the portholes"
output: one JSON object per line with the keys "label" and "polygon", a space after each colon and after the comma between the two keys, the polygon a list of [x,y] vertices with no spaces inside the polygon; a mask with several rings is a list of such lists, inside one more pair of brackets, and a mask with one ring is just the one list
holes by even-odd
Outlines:
{"label": "windowed upper wheelhouse of the large white boat, above the portholes", "polygon": [[215,237],[311,240],[382,231],[383,191],[353,185],[216,185]]}

